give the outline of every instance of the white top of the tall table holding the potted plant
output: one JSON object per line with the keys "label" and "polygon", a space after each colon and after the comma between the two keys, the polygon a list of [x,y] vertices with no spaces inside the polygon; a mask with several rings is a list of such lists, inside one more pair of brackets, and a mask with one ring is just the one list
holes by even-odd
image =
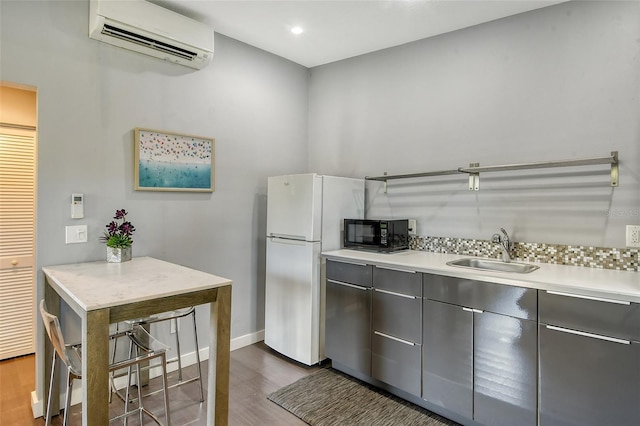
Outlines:
{"label": "white top of the tall table holding the potted plant", "polygon": [[46,266],[51,285],[84,311],[174,296],[232,281],[151,257],[122,263],[105,261]]}

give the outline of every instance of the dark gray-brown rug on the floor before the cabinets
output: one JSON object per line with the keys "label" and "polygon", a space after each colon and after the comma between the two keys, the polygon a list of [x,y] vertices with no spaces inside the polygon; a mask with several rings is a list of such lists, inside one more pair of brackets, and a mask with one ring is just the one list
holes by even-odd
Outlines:
{"label": "dark gray-brown rug on the floor before the cabinets", "polygon": [[310,425],[458,424],[331,368],[303,377],[267,398]]}

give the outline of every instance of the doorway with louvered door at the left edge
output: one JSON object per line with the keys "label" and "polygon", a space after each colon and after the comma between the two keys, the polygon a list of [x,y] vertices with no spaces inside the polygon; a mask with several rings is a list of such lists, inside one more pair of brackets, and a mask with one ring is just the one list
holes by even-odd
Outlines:
{"label": "doorway with louvered door at the left edge", "polygon": [[0,83],[0,360],[35,352],[36,105]]}

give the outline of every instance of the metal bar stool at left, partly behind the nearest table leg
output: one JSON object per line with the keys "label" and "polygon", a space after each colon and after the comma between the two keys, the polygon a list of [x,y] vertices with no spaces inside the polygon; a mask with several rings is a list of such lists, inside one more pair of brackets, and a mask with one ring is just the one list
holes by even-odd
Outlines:
{"label": "metal bar stool at left, partly behind the nearest table leg", "polygon": [[[51,394],[53,393],[54,372],[55,372],[55,366],[56,366],[56,359],[58,357],[67,367],[67,395],[65,399],[65,409],[64,409],[64,417],[63,417],[63,423],[62,423],[63,425],[66,425],[67,419],[69,416],[69,408],[71,406],[71,390],[73,386],[73,381],[82,379],[82,346],[80,344],[77,344],[77,345],[65,344],[58,317],[50,314],[47,311],[47,307],[45,305],[44,300],[40,302],[40,315],[42,316],[42,321],[44,323],[47,336],[49,336],[49,340],[51,341],[51,344],[54,347],[53,361],[51,365],[51,378],[49,383],[49,398],[47,400],[47,412],[45,414],[45,425],[49,426],[51,424]],[[137,369],[137,374],[139,376],[140,364],[147,363],[153,359],[159,358],[162,363],[162,386],[164,391],[164,412],[166,417],[166,425],[170,426],[171,420],[169,415],[169,395],[167,392],[166,349],[164,348],[155,349],[155,350],[151,349],[152,345],[146,345],[144,343],[146,336],[145,338],[140,337],[140,333],[143,333],[143,332],[146,332],[146,331],[138,327],[138,328],[133,328],[131,330],[123,331],[121,333],[118,333],[112,336],[113,338],[128,336],[131,341],[131,344],[135,346],[135,350],[133,351],[133,353],[135,353],[135,356],[133,358],[127,358],[124,360],[112,362],[109,365],[109,371],[113,372],[116,370],[127,368],[129,370],[129,377],[130,377],[131,368],[135,366]],[[129,403],[129,387],[127,387],[127,391],[126,391],[124,413],[112,418],[111,420],[117,420],[120,418],[125,418],[126,420],[128,416],[138,413],[140,416],[140,422],[142,423],[142,416],[143,416],[143,413],[145,413],[149,415],[156,423],[161,424],[157,416],[155,416],[153,413],[151,413],[150,411],[146,410],[143,407],[142,394],[139,386],[138,386],[138,408],[135,410],[129,411],[128,403]]]}

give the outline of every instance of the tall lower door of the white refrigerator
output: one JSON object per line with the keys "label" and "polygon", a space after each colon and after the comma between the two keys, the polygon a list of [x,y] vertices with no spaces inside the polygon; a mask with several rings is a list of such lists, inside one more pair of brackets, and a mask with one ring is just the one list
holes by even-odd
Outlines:
{"label": "tall lower door of the white refrigerator", "polygon": [[267,238],[264,342],[296,361],[320,361],[320,243]]}

